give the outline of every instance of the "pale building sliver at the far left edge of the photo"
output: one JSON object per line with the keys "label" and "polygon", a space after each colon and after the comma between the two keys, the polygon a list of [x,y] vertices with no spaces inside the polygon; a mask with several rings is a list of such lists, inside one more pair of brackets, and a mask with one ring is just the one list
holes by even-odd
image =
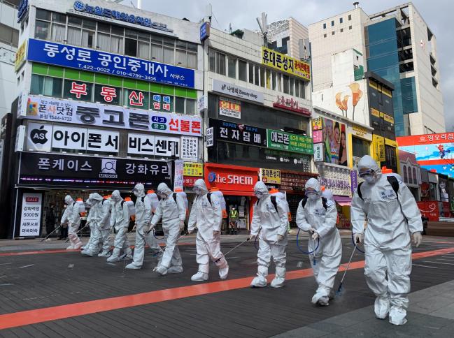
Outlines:
{"label": "pale building sliver at the far left edge of the photo", "polygon": [[14,68],[19,43],[19,3],[19,0],[0,0],[0,119],[10,112],[17,96]]}

